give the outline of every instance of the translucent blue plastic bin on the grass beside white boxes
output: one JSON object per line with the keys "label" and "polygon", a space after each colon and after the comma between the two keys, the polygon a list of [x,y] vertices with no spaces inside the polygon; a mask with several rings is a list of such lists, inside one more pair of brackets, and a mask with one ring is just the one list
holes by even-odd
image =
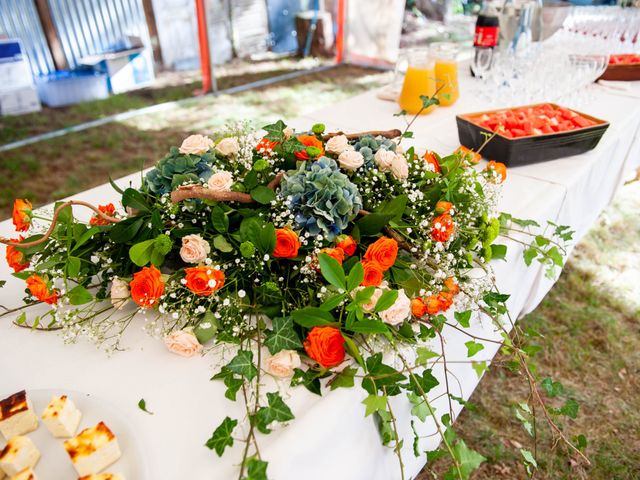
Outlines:
{"label": "translucent blue plastic bin on the grass beside white boxes", "polygon": [[61,70],[37,78],[42,103],[63,107],[109,96],[107,75],[93,70]]}

